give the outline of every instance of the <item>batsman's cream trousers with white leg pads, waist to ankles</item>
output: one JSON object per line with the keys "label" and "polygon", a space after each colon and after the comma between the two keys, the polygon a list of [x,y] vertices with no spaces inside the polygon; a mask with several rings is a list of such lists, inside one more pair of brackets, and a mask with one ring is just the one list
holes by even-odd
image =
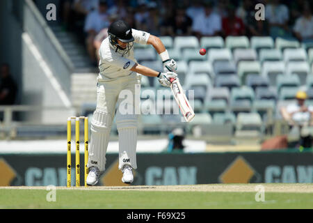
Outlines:
{"label": "batsman's cream trousers with white leg pads, waist to ankles", "polygon": [[[140,100],[141,75],[132,72],[127,77],[98,82],[97,107],[91,122],[91,138],[89,147],[88,167],[98,167],[104,171],[106,149],[113,123],[118,129],[119,165],[125,164],[134,169],[136,163],[138,100]],[[139,93],[139,95],[138,95]],[[137,104],[136,104],[137,103]]]}

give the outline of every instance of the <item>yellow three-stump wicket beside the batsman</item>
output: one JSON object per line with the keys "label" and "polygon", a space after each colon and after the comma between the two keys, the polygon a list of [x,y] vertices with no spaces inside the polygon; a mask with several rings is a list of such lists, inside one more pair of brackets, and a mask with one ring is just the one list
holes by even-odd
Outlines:
{"label": "yellow three-stump wicket beside the batsman", "polygon": [[75,120],[75,144],[76,144],[76,152],[75,152],[75,185],[79,187],[81,185],[80,182],[80,160],[79,160],[79,120],[84,120],[84,140],[85,140],[85,187],[87,187],[87,176],[88,176],[88,117],[85,116],[72,116],[67,118],[67,187],[71,187],[71,167],[72,167],[72,160],[71,160],[71,139],[72,139],[72,119]]}

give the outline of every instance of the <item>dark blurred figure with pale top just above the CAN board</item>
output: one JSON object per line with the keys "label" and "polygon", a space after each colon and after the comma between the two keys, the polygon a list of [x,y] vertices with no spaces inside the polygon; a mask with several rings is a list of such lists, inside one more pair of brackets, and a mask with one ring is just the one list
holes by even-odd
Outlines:
{"label": "dark blurred figure with pale top just above the CAN board", "polygon": [[184,130],[175,128],[168,134],[168,153],[183,152],[184,151]]}

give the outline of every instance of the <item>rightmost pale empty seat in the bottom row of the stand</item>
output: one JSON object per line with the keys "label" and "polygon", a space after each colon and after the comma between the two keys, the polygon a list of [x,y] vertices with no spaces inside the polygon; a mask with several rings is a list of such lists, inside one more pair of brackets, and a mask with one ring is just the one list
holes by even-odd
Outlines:
{"label": "rightmost pale empty seat in the bottom row of the stand", "polygon": [[262,118],[257,113],[239,113],[236,121],[236,130],[262,131]]}

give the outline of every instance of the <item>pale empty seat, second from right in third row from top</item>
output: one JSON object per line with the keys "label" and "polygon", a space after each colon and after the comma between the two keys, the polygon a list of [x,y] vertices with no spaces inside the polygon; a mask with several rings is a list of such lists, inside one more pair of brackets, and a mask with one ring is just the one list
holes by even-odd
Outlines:
{"label": "pale empty seat, second from right in third row from top", "polygon": [[285,74],[285,67],[282,61],[266,61],[262,65],[262,76],[268,77],[271,86],[276,86],[277,76]]}

